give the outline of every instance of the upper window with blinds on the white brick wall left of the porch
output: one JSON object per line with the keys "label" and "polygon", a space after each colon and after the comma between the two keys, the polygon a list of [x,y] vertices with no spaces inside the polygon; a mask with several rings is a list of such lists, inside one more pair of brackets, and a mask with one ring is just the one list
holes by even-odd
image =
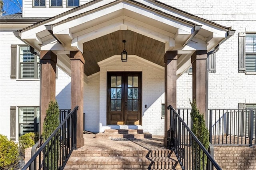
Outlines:
{"label": "upper window with blinds on the white brick wall left of the porch", "polygon": [[30,53],[29,46],[20,46],[19,50],[20,79],[39,79],[40,58]]}

